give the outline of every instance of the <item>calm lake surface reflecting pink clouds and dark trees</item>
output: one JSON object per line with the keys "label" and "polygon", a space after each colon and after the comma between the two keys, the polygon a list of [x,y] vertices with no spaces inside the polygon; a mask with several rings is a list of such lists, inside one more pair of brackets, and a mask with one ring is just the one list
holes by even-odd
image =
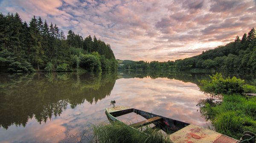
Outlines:
{"label": "calm lake surface reflecting pink clouds and dark trees", "polygon": [[206,98],[197,83],[207,75],[0,73],[0,142],[87,142],[84,133],[91,123],[108,120],[105,108],[111,100],[206,126],[196,104]]}

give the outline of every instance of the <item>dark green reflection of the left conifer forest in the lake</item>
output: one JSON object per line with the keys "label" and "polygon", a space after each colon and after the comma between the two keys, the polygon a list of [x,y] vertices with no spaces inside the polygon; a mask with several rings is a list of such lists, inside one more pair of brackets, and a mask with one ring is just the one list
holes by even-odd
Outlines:
{"label": "dark green reflection of the left conifer forest in the lake", "polygon": [[90,104],[110,95],[116,73],[37,73],[1,75],[0,127],[41,123],[86,100]]}

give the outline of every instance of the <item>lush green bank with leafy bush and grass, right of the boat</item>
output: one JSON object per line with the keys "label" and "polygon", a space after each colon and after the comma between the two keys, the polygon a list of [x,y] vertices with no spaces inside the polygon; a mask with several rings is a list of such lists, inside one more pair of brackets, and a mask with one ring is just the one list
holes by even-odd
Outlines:
{"label": "lush green bank with leafy bush and grass, right of the boat", "polygon": [[211,95],[202,100],[200,111],[210,120],[216,131],[239,139],[244,131],[256,132],[256,97],[243,93],[255,93],[256,87],[244,84],[241,79],[226,78],[220,73],[201,81],[200,90]]}

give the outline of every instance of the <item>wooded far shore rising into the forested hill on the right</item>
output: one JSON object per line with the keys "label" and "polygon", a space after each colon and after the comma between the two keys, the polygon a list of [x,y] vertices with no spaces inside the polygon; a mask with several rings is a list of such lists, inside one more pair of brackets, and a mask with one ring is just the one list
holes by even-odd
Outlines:
{"label": "wooded far shore rising into the forested hill on the right", "polygon": [[200,55],[168,62],[144,62],[117,60],[119,70],[189,70],[214,69],[219,71],[256,72],[256,31],[252,28],[240,39],[236,36],[233,42],[224,46],[203,51]]}

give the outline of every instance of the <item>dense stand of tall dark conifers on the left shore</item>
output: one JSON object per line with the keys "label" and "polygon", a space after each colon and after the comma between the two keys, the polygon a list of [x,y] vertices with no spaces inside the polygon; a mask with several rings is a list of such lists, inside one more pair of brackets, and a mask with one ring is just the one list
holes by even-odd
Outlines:
{"label": "dense stand of tall dark conifers on the left shore", "polygon": [[85,39],[73,31],[64,32],[52,22],[32,17],[23,22],[18,13],[0,13],[0,68],[11,72],[37,70],[116,70],[109,44],[96,36]]}

